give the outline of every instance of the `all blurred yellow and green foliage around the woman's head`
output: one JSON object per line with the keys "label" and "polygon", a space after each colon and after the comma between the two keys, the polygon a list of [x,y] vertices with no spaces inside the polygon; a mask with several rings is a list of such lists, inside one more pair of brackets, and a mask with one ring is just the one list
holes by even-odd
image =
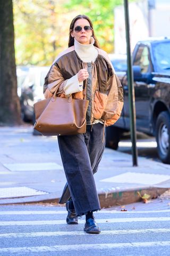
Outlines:
{"label": "all blurred yellow and green foliage around the woman's head", "polygon": [[100,46],[114,51],[114,7],[123,0],[13,0],[17,65],[51,65],[65,50],[71,20],[88,15]]}

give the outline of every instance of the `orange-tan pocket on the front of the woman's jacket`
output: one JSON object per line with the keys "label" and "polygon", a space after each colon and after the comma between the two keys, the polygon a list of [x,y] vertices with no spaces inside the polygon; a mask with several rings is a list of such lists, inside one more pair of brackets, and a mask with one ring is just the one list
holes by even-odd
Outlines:
{"label": "orange-tan pocket on the front of the woman's jacket", "polygon": [[107,94],[96,90],[94,95],[94,118],[100,119],[107,104]]}

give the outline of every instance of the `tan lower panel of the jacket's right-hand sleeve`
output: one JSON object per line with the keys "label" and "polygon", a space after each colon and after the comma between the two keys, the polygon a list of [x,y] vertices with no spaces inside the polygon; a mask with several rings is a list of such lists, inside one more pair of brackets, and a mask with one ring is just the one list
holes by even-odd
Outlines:
{"label": "tan lower panel of the jacket's right-hand sleeve", "polygon": [[123,87],[114,73],[108,81],[107,104],[101,117],[106,126],[114,124],[121,116],[123,108]]}

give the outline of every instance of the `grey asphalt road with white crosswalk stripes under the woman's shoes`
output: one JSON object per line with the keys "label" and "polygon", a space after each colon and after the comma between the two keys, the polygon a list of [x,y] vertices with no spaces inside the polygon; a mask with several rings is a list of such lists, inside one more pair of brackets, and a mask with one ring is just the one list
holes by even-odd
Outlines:
{"label": "grey asphalt road with white crosswalk stripes under the woman's shoes", "polygon": [[65,207],[1,206],[0,255],[168,256],[170,209],[168,205],[159,211],[145,206],[142,211],[133,207],[96,213],[99,235],[84,233],[84,217],[79,225],[67,225]]}

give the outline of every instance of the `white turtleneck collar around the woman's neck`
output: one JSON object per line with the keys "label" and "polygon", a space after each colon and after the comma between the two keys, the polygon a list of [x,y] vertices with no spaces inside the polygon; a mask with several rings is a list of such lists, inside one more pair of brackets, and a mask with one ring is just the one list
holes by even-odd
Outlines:
{"label": "white turtleneck collar around the woman's neck", "polygon": [[98,51],[94,46],[95,39],[91,36],[90,44],[80,44],[74,38],[75,52],[79,55],[80,59],[84,62],[95,61],[98,55]]}

